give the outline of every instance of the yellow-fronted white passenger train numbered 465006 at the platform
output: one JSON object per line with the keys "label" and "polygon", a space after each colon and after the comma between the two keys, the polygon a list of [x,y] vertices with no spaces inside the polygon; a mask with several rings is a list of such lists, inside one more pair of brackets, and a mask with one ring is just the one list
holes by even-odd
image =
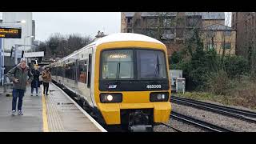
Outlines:
{"label": "yellow-fronted white passenger train numbered 465006 at the platform", "polygon": [[169,121],[167,50],[157,39],[110,34],[47,67],[102,126],[152,131]]}

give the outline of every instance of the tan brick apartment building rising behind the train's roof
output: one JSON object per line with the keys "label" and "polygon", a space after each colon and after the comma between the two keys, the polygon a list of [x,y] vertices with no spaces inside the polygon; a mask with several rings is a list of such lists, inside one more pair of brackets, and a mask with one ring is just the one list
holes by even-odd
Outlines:
{"label": "tan brick apartment building rising behind the train's roof", "polygon": [[[198,29],[206,33],[215,25],[225,25],[223,12],[122,12],[121,17],[121,32],[156,38],[166,44],[169,55],[182,49],[186,38],[191,36],[191,30]],[[217,31],[223,30],[226,29]]]}

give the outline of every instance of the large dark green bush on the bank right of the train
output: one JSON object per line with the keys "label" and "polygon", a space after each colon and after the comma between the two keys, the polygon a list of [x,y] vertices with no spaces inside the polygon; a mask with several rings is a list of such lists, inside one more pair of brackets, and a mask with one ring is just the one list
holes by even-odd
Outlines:
{"label": "large dark green bush on the bank right of the train", "polygon": [[[170,69],[183,70],[190,90],[226,94],[230,81],[249,71],[246,58],[218,55],[216,50],[205,50],[198,32],[186,41],[185,49],[174,52],[169,58]],[[188,88],[186,87],[186,88]]]}

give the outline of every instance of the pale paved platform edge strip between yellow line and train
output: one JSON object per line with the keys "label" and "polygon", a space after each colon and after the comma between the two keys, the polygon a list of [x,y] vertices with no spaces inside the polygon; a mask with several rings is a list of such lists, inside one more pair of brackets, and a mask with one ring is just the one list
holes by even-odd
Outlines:
{"label": "pale paved platform edge strip between yellow line and train", "polygon": [[51,85],[50,94],[45,98],[50,132],[101,131],[57,87]]}

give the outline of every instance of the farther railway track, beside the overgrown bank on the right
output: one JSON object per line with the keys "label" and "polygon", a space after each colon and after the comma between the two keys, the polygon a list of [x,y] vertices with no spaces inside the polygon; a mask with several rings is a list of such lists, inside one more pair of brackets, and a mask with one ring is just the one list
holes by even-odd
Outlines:
{"label": "farther railway track, beside the overgrown bank on the right", "polygon": [[200,102],[189,98],[180,98],[176,96],[171,96],[170,101],[177,104],[197,107],[202,110],[209,110],[218,114],[224,114],[233,118],[239,118],[247,122],[256,123],[256,113],[248,110],[240,110],[232,107],[220,106],[208,102]]}

